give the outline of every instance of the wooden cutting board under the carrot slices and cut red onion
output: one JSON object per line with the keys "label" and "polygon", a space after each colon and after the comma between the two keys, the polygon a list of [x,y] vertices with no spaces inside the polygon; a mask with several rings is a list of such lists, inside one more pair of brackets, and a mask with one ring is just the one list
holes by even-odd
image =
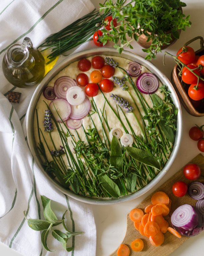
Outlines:
{"label": "wooden cutting board under the carrot slices and cut red onion", "polygon": [[[202,154],[197,155],[193,158],[189,163],[198,164],[201,168],[201,177],[198,181],[204,182],[204,156]],[[181,198],[175,197],[171,191],[172,185],[176,181],[184,181],[190,184],[192,181],[187,180],[183,175],[183,168],[181,168],[177,173],[175,173],[170,179],[168,179],[163,185],[161,185],[156,191],[164,191],[169,198],[172,200],[171,211],[165,219],[168,221],[169,226],[171,226],[171,214],[173,211],[180,205],[190,204],[195,206],[196,200],[192,199],[189,195],[185,195]],[[145,207],[151,203],[151,197],[153,195],[149,195],[146,199],[144,199],[136,208],[140,208],[144,211]],[[132,251],[130,244],[136,238],[141,238],[144,242],[144,249],[141,252]],[[181,244],[183,244],[188,237],[181,237],[180,239],[170,234],[168,231],[164,234],[164,242],[162,245],[155,247],[150,244],[149,238],[142,236],[138,230],[135,229],[133,221],[130,220],[129,214],[127,215],[127,231],[125,238],[123,240],[123,244],[128,245],[130,248],[130,256],[142,255],[142,256],[167,256],[170,255],[173,251],[175,251]],[[117,250],[113,252],[110,256],[117,256]]]}

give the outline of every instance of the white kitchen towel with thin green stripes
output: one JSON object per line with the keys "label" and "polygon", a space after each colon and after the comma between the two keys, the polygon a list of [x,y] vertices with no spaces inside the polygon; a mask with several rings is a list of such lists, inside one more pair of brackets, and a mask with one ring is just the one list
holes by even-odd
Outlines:
{"label": "white kitchen towel with thin green stripes", "polygon": [[[9,45],[21,43],[25,36],[38,46],[50,34],[94,9],[89,0],[4,0],[0,6],[0,63]],[[20,103],[10,103],[7,91],[22,93]],[[20,89],[9,84],[0,67],[0,241],[26,256],[70,255],[94,256],[96,229],[88,204],[80,203],[55,189],[36,166],[29,151],[21,121],[35,87]],[[25,121],[25,120],[24,120]],[[46,251],[40,231],[32,230],[24,217],[43,218],[40,195],[52,201],[51,207],[60,218],[65,210],[69,230],[83,231],[70,238],[66,252],[51,234]],[[57,229],[62,228],[57,226]]]}

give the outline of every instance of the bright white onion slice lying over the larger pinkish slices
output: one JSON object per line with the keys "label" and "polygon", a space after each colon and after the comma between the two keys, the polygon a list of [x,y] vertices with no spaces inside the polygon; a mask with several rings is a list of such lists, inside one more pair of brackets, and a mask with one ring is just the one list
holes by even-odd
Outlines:
{"label": "bright white onion slice lying over the larger pinkish slices", "polygon": [[80,87],[72,86],[67,90],[66,99],[70,105],[76,106],[85,100],[85,93]]}

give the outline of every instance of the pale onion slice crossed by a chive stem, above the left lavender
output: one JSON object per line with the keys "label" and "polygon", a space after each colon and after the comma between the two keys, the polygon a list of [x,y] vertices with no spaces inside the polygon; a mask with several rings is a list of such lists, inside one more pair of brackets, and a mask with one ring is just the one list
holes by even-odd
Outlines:
{"label": "pale onion slice crossed by a chive stem, above the left lavender", "polygon": [[50,110],[52,115],[54,116],[57,122],[64,122],[66,121],[71,113],[71,106],[70,104],[64,99],[55,99],[53,100],[50,105]]}

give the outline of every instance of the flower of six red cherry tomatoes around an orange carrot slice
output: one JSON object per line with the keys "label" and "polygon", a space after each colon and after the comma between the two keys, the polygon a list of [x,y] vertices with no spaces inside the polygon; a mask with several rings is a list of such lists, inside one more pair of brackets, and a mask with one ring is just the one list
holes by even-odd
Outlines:
{"label": "flower of six red cherry tomatoes around an orange carrot slice", "polygon": [[95,69],[90,73],[91,83],[89,83],[89,78],[85,73],[79,73],[76,77],[76,82],[81,86],[85,86],[85,93],[89,97],[96,96],[99,87],[103,92],[111,92],[114,87],[114,82],[108,78],[114,75],[115,68],[110,65],[105,65],[104,58],[101,56],[95,56],[91,61],[81,59],[78,62],[78,69],[83,72],[88,71],[91,66]]}

